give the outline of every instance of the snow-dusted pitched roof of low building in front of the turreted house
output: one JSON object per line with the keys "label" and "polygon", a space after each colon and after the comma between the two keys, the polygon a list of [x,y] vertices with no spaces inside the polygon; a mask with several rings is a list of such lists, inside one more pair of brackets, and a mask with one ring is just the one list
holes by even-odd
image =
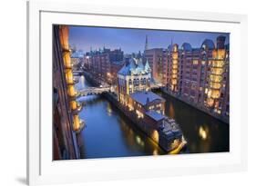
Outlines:
{"label": "snow-dusted pitched roof of low building in front of the turreted house", "polygon": [[158,94],[152,93],[152,92],[146,92],[146,91],[131,93],[130,97],[134,101],[136,101],[137,103],[140,103],[142,105],[146,105],[147,102],[151,103],[155,100],[164,101],[164,99],[162,97],[160,97]]}

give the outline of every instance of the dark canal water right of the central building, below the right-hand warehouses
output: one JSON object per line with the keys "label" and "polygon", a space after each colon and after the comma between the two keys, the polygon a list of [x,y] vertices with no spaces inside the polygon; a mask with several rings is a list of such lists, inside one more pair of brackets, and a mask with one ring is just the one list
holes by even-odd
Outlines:
{"label": "dark canal water right of the central building, below the right-hand warehouses", "polygon": [[188,141],[190,153],[230,151],[229,124],[220,122],[169,95],[157,93],[166,99],[167,115],[179,122]]}

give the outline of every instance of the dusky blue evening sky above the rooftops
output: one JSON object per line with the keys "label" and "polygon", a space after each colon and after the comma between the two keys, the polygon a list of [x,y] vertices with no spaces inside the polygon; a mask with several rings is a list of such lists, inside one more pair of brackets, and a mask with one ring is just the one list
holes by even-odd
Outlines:
{"label": "dusky blue evening sky above the rooftops", "polygon": [[171,44],[189,43],[193,48],[200,47],[205,39],[211,39],[216,44],[216,38],[221,34],[226,36],[226,44],[230,41],[227,33],[200,33],[182,31],[161,31],[146,29],[123,29],[108,27],[70,26],[69,44],[76,46],[77,50],[90,51],[98,48],[118,49],[121,48],[125,54],[144,51],[145,38],[148,35],[148,49],[167,48]]}

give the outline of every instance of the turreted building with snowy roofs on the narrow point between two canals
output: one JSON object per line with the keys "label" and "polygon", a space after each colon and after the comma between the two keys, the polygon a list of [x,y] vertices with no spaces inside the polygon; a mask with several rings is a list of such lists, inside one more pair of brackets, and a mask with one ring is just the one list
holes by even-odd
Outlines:
{"label": "turreted building with snowy roofs on the narrow point between two canals", "polygon": [[165,151],[184,142],[178,124],[165,113],[165,100],[150,91],[151,69],[146,60],[130,58],[118,72],[118,99],[126,114]]}

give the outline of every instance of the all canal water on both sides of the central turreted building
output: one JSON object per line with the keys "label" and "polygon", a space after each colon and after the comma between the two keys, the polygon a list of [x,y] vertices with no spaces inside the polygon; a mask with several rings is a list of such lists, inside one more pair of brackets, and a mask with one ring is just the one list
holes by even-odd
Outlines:
{"label": "all canal water on both sides of the central turreted building", "polygon": [[[81,76],[77,89],[90,84]],[[161,93],[159,93],[161,94]],[[186,152],[228,152],[229,126],[205,113],[162,94],[166,114],[177,120],[188,141]],[[135,124],[101,95],[78,98],[85,103],[79,113],[87,127],[79,137],[81,158],[108,158],[166,154]]]}

